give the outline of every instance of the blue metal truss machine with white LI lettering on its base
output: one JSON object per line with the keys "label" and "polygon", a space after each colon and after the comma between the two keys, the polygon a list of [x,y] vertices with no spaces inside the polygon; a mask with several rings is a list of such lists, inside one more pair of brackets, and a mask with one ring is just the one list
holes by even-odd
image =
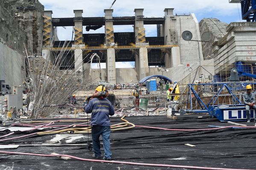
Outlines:
{"label": "blue metal truss machine with white LI lettering on its base", "polygon": [[[234,76],[235,75],[235,76]],[[237,79],[237,75],[244,75],[247,77],[256,78],[254,74],[248,74],[243,71],[239,71],[235,68],[231,71],[230,82],[212,82],[212,83],[198,83],[198,84],[188,84],[187,88],[184,89],[182,94],[185,91],[188,91],[188,100],[187,100],[187,108],[185,111],[193,112],[193,113],[209,113],[210,116],[216,117],[221,122],[227,121],[245,121],[246,110],[245,105],[242,101],[242,94],[246,88],[254,85],[256,86],[256,82],[239,82],[232,80]],[[212,87],[212,96],[209,96],[209,101],[201,99],[200,91],[198,91],[198,87],[200,90],[206,88],[206,86]],[[253,89],[254,92],[256,89]],[[229,103],[224,103],[223,98],[228,98]],[[193,103],[196,102],[199,106],[196,107]],[[251,119],[254,119],[255,110],[250,110]]]}

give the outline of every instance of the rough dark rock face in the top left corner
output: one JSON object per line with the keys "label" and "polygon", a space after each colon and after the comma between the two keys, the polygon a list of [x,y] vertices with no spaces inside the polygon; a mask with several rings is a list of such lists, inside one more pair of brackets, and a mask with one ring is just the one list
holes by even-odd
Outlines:
{"label": "rough dark rock face in the top left corner", "polygon": [[3,37],[3,41],[17,51],[24,51],[25,44],[29,55],[40,54],[44,6],[38,0],[0,2],[0,13],[3,13],[0,15],[3,16],[3,19],[0,18],[0,37]]}

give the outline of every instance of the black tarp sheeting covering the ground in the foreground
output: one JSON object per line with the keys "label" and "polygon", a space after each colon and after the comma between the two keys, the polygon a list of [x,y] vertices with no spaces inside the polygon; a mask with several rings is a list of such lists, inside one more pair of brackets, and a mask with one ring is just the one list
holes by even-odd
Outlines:
{"label": "black tarp sheeting covering the ground in the foreground", "polygon": [[[203,116],[203,118],[198,118]],[[129,122],[140,126],[152,126],[170,129],[199,129],[212,126],[230,126],[226,122],[206,115],[177,116],[177,120],[166,116],[130,116]],[[112,117],[112,124],[122,122],[120,117]],[[254,123],[239,122],[253,126]],[[70,125],[59,122],[56,125]],[[30,132],[31,133],[31,132]],[[15,133],[10,137],[26,133]],[[41,144],[47,143],[56,136],[31,136],[0,144]],[[72,136],[72,134],[71,134]],[[6,138],[9,138],[6,137]],[[4,138],[4,139],[6,139]],[[91,139],[91,136],[89,140]],[[111,133],[111,150],[113,161],[129,161],[151,164],[172,164],[184,166],[219,167],[256,169],[256,129],[226,128],[203,131],[169,131],[135,127],[129,130]],[[87,135],[74,141],[73,144],[86,144]],[[61,141],[61,143],[65,143]],[[193,144],[190,147],[185,144]],[[59,153],[92,159],[92,151],[86,146],[19,146],[17,149],[2,151],[50,154]],[[103,148],[102,148],[102,153]],[[10,155],[0,153],[0,170],[165,170],[180,169],[167,167],[149,167],[128,164],[99,163],[79,160],[63,160],[56,157]],[[7,170],[6,169],[6,170]]]}

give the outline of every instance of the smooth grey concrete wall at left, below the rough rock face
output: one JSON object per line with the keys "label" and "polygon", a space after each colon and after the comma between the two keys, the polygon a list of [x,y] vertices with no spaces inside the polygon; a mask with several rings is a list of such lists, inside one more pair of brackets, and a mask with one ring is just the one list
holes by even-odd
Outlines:
{"label": "smooth grey concrete wall at left, below the rough rock face", "polygon": [[0,79],[10,86],[22,85],[25,72],[21,66],[25,66],[24,57],[0,42]]}

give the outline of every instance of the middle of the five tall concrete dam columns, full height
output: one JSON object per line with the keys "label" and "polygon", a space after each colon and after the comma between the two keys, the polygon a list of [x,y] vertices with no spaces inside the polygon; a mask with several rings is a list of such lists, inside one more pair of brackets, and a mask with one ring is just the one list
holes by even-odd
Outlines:
{"label": "middle of the five tall concrete dam columns, full height", "polygon": [[115,72],[115,49],[111,48],[115,45],[114,42],[114,28],[113,28],[113,9],[104,9],[105,13],[105,43],[109,48],[107,49],[106,70],[107,82],[116,84]]}

